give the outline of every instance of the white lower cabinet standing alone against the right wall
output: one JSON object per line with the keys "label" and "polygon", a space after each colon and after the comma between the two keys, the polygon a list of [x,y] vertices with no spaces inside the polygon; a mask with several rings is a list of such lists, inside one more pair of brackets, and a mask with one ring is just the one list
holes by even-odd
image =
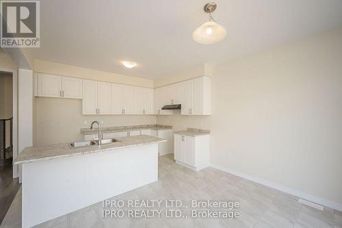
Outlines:
{"label": "white lower cabinet standing alone against the right wall", "polygon": [[183,136],[174,134],[174,160],[194,170],[209,166],[210,136]]}

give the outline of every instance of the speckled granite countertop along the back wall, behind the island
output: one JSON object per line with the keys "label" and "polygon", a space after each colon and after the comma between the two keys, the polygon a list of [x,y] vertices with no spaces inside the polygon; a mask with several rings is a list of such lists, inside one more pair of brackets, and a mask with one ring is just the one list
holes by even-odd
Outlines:
{"label": "speckled granite countertop along the back wall, behind the island", "polygon": [[[167,125],[133,125],[133,126],[119,126],[119,127],[101,127],[101,133],[113,133],[113,132],[122,132],[122,131],[141,131],[141,130],[168,130],[172,129],[172,126]],[[98,128],[89,129],[82,128],[81,134],[83,135],[91,135],[97,134]]]}

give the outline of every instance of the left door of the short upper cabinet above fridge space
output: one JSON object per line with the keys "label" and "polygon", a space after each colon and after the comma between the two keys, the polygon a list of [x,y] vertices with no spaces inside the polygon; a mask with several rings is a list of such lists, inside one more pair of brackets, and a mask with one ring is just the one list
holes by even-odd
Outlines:
{"label": "left door of the short upper cabinet above fridge space", "polygon": [[38,73],[39,97],[62,97],[62,76]]}

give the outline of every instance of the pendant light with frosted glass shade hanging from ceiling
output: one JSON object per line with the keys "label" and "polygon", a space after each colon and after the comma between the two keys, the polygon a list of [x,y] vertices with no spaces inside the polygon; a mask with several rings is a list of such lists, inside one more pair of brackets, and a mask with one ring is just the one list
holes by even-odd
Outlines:
{"label": "pendant light with frosted glass shade hanging from ceiling", "polygon": [[209,14],[209,21],[200,25],[200,27],[195,29],[192,33],[192,38],[196,42],[199,42],[200,44],[213,44],[219,42],[226,36],[226,28],[216,23],[211,16],[211,13],[216,10],[216,7],[216,3],[207,3],[203,8],[205,12]]}

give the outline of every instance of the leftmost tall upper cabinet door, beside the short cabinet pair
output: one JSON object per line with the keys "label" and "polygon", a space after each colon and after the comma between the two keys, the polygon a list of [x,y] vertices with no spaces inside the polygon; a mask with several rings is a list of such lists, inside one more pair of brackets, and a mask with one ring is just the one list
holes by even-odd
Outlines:
{"label": "leftmost tall upper cabinet door, beside the short cabinet pair", "polygon": [[84,114],[97,114],[97,81],[83,80],[82,109]]}

